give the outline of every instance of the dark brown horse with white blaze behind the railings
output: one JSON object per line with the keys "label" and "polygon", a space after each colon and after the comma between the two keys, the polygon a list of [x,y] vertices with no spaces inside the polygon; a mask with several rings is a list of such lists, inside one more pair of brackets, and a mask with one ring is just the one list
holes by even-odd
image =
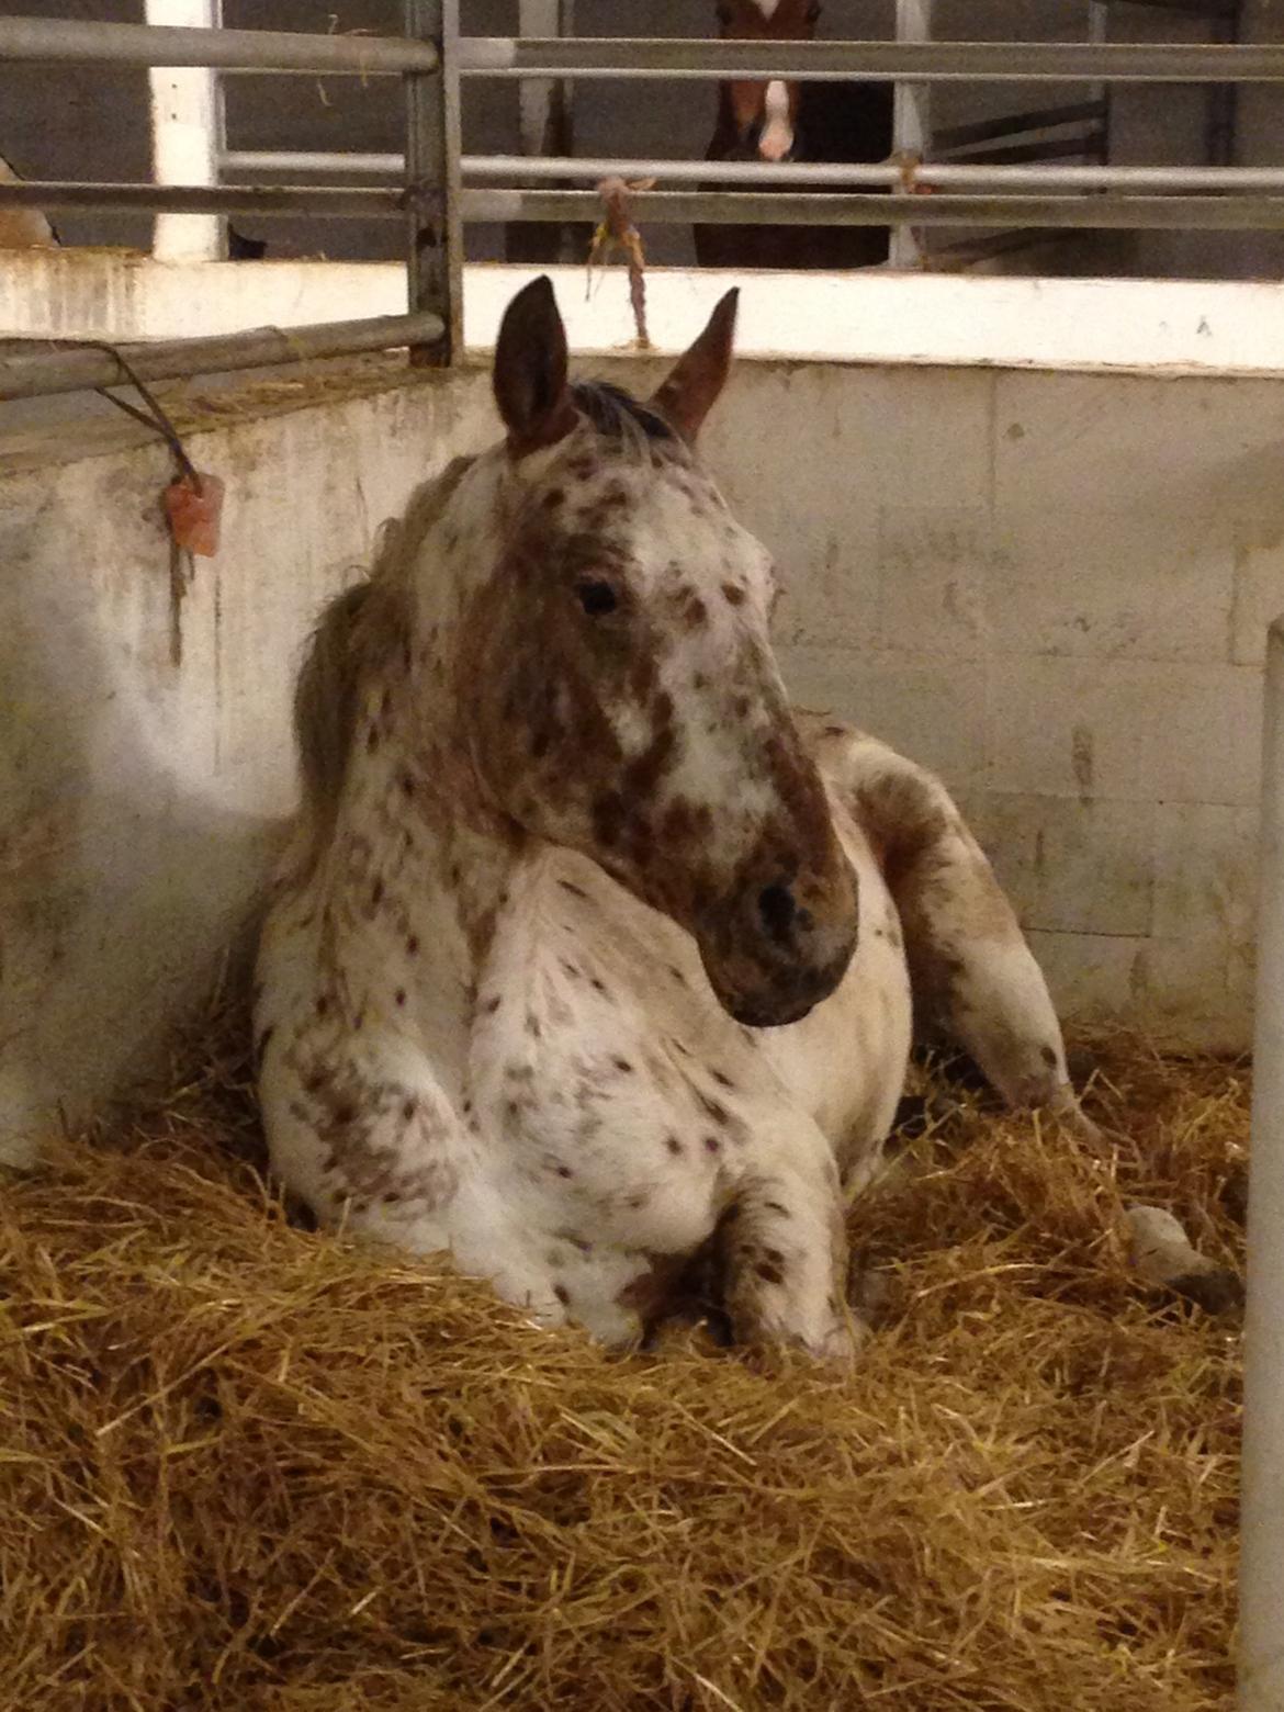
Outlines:
{"label": "dark brown horse with white blaze behind the railings", "polygon": [[[818,19],[815,0],[721,0],[717,7],[719,31],[731,41],[811,41]],[[885,161],[892,101],[890,84],[734,79],[719,86],[717,130],[705,159]],[[798,188],[808,188],[803,178]],[[885,226],[695,228],[700,267],[841,270],[877,267],[887,253]]]}

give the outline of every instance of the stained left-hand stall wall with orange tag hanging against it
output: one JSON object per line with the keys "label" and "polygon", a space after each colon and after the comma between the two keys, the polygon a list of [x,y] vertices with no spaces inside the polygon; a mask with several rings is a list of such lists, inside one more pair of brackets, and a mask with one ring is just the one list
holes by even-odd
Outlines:
{"label": "stained left-hand stall wall with orange tag hanging against it", "polygon": [[151,437],[75,419],[0,455],[0,1159],[149,1073],[247,945],[296,803],[303,639],[382,519],[495,438],[481,370],[231,397],[187,433],[226,502],[181,587]]}

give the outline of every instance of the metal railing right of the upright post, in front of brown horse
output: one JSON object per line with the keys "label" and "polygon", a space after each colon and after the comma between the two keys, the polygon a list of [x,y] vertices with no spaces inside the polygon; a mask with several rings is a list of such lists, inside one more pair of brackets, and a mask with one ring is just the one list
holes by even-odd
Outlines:
{"label": "metal railing right of the upright post, in front of brown horse", "polygon": [[[1135,0],[1212,21],[1236,14],[1234,0]],[[899,0],[904,29],[926,17],[930,0]],[[1091,9],[1101,36],[1103,7]],[[919,36],[926,26],[919,22]],[[462,156],[461,214],[476,221],[568,223],[596,217],[592,185],[618,173],[651,178],[637,192],[637,219],[661,224],[698,219],[734,224],[878,224],[1094,229],[1279,229],[1284,226],[1281,168],[1063,164],[1067,156],[1104,154],[1106,89],[1116,84],[1202,82],[1234,89],[1284,82],[1284,45],[1239,43],[966,43],[897,41],[697,41],[668,38],[464,36],[455,45],[461,79],[517,79],[524,84],[574,79],[700,79],[728,75],[800,80],[894,82],[897,159],[871,166],[710,163],[675,159],[579,159],[568,156]],[[1087,82],[1092,99],[955,127],[931,139],[924,103],[940,82]],[[1049,135],[1058,127],[1063,134]],[[1087,130],[1065,128],[1087,127]],[[914,139],[923,144],[914,149]],[[1019,137],[1007,149],[976,151]],[[919,159],[931,144],[936,159]],[[1034,164],[1046,161],[1049,164]],[[318,154],[224,149],[226,173],[325,173],[401,176],[397,154]],[[558,188],[544,188],[556,183]],[[568,188],[575,183],[584,190]],[[690,187],[681,193],[671,188]],[[796,192],[781,187],[798,187]],[[700,187],[700,188],[697,188]],[[719,187],[710,190],[707,187]],[[726,190],[733,188],[734,197]],[[870,192],[866,199],[820,190]],[[930,202],[923,190],[940,192]],[[875,192],[882,192],[877,193]],[[885,192],[890,192],[885,193]],[[356,204],[354,204],[356,205]],[[899,259],[906,260],[902,248]]]}

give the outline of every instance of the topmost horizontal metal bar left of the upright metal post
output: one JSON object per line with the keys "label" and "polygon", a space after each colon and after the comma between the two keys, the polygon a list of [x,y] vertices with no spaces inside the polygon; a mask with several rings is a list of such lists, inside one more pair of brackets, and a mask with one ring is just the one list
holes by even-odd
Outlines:
{"label": "topmost horizontal metal bar left of the upright metal post", "polygon": [[437,48],[395,36],[305,36],[284,29],[178,29],[87,19],[3,17],[0,60],[39,65],[212,65],[223,72],[392,77],[435,72]]}

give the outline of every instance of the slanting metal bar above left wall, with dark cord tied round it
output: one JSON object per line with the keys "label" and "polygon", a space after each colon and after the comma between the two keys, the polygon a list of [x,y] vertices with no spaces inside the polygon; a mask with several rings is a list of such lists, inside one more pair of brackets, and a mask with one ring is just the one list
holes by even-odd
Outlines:
{"label": "slanting metal bar above left wall, with dark cord tied round it", "polygon": [[[377,315],[370,320],[317,322],[310,327],[253,327],[250,332],[219,334],[212,339],[122,344],[120,349],[139,378],[176,380],[185,375],[221,375],[240,368],[274,368],[325,356],[435,344],[443,330],[440,315]],[[36,342],[39,341],[33,341]],[[101,348],[63,346],[31,356],[0,356],[0,402],[127,383],[128,377],[120,363]]]}

